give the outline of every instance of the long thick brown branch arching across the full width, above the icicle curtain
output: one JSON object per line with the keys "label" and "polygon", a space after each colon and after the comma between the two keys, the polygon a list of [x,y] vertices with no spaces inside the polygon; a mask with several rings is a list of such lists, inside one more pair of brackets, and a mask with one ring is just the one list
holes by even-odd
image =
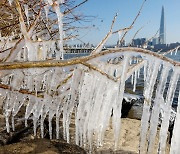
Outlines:
{"label": "long thick brown branch arching across the full width, above the icicle curtain", "polygon": [[37,68],[37,67],[65,67],[69,65],[76,65],[80,64],[81,62],[86,62],[89,60],[92,60],[94,58],[98,58],[101,56],[108,56],[108,55],[114,55],[116,57],[118,54],[121,55],[121,53],[126,53],[128,51],[134,51],[139,54],[143,55],[149,55],[153,56],[156,58],[159,58],[163,61],[169,62],[170,64],[174,66],[180,66],[180,62],[173,61],[170,58],[167,58],[163,55],[159,55],[155,52],[146,50],[146,49],[141,49],[141,48],[132,48],[132,47],[127,47],[127,48],[119,48],[119,49],[109,49],[105,50],[103,52],[90,55],[87,57],[81,57],[81,58],[74,58],[66,61],[58,61],[58,60],[47,60],[47,61],[33,61],[33,62],[8,62],[8,63],[0,63],[0,70],[8,70],[8,69],[25,69],[25,68]]}

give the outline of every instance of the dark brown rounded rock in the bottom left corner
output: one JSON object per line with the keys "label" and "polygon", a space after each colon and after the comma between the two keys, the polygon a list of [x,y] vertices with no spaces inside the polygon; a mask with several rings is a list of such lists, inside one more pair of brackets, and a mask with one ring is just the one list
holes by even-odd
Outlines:
{"label": "dark brown rounded rock in the bottom left corner", "polygon": [[85,154],[85,150],[63,140],[34,139],[0,147],[1,154]]}

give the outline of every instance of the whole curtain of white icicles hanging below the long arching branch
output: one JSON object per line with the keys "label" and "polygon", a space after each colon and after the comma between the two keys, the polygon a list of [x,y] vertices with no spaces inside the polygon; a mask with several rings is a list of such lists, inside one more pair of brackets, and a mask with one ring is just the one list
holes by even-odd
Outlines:
{"label": "whole curtain of white icicles hanging below the long arching branch", "polygon": [[[123,57],[119,64],[107,63],[109,58]],[[124,95],[125,81],[128,70],[133,65],[134,52],[108,54],[102,58],[90,60],[89,63],[103,70],[108,75],[118,78],[117,82],[106,76],[88,69],[82,65],[52,69],[26,69],[14,70],[9,76],[2,78],[3,84],[11,86],[11,91],[1,89],[1,101],[3,101],[4,115],[7,131],[10,131],[9,120],[11,117],[12,129],[14,129],[14,117],[22,105],[26,106],[25,123],[32,117],[34,134],[36,135],[37,123],[40,121],[41,135],[43,137],[43,123],[45,118],[49,120],[49,133],[52,138],[52,119],[56,118],[56,138],[59,138],[60,115],[63,115],[63,132],[67,142],[70,141],[69,125],[72,113],[75,114],[75,138],[76,144],[92,148],[93,141],[97,146],[103,145],[104,134],[110,124],[114,130],[115,147],[118,147],[121,128],[121,107]],[[159,152],[165,153],[169,127],[171,105],[179,79],[179,68],[154,58],[142,55],[144,61],[144,108],[141,125],[141,153],[152,153],[158,128],[160,110],[163,119],[159,132]],[[70,71],[73,68],[73,71]],[[134,71],[133,83],[136,84],[139,69]],[[171,72],[171,75],[170,75]],[[67,76],[72,77],[60,84]],[[159,75],[159,82],[155,98],[152,102],[154,86]],[[170,77],[170,83],[166,83]],[[135,87],[135,85],[134,85]],[[165,88],[168,88],[164,98]],[[33,94],[21,94],[18,91],[26,89],[34,91]],[[43,96],[41,95],[43,94]],[[180,100],[180,99],[179,99]],[[150,108],[152,107],[152,112]],[[112,115],[113,112],[113,115]],[[179,152],[179,107],[174,124],[174,133],[171,143],[171,153]],[[151,116],[150,116],[151,115]],[[147,146],[148,141],[148,146]],[[147,146],[147,147],[146,147]]]}

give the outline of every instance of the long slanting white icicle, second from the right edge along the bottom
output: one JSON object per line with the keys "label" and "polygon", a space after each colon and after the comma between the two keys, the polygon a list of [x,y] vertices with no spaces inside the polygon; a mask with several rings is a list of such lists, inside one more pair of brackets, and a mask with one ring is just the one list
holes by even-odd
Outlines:
{"label": "long slanting white icicle, second from the right edge along the bottom", "polygon": [[165,100],[165,105],[163,108],[164,111],[164,116],[161,124],[161,129],[160,129],[160,141],[159,141],[159,152],[160,153],[165,153],[165,147],[166,147],[166,140],[167,140],[167,133],[168,133],[168,127],[169,127],[169,119],[170,119],[170,114],[171,114],[171,104],[173,101],[174,93],[176,90],[176,85],[177,85],[177,80],[179,78],[179,70],[174,69],[174,72],[172,74],[166,100]]}

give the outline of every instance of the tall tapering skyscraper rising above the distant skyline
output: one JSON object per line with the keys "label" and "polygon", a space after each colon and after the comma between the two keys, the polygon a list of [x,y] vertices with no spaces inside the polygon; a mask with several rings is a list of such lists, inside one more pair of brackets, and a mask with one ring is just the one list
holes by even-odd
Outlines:
{"label": "tall tapering skyscraper rising above the distant skyline", "polygon": [[159,44],[166,44],[164,7],[162,7],[162,12],[161,12],[161,21],[160,21],[160,29],[159,29]]}

